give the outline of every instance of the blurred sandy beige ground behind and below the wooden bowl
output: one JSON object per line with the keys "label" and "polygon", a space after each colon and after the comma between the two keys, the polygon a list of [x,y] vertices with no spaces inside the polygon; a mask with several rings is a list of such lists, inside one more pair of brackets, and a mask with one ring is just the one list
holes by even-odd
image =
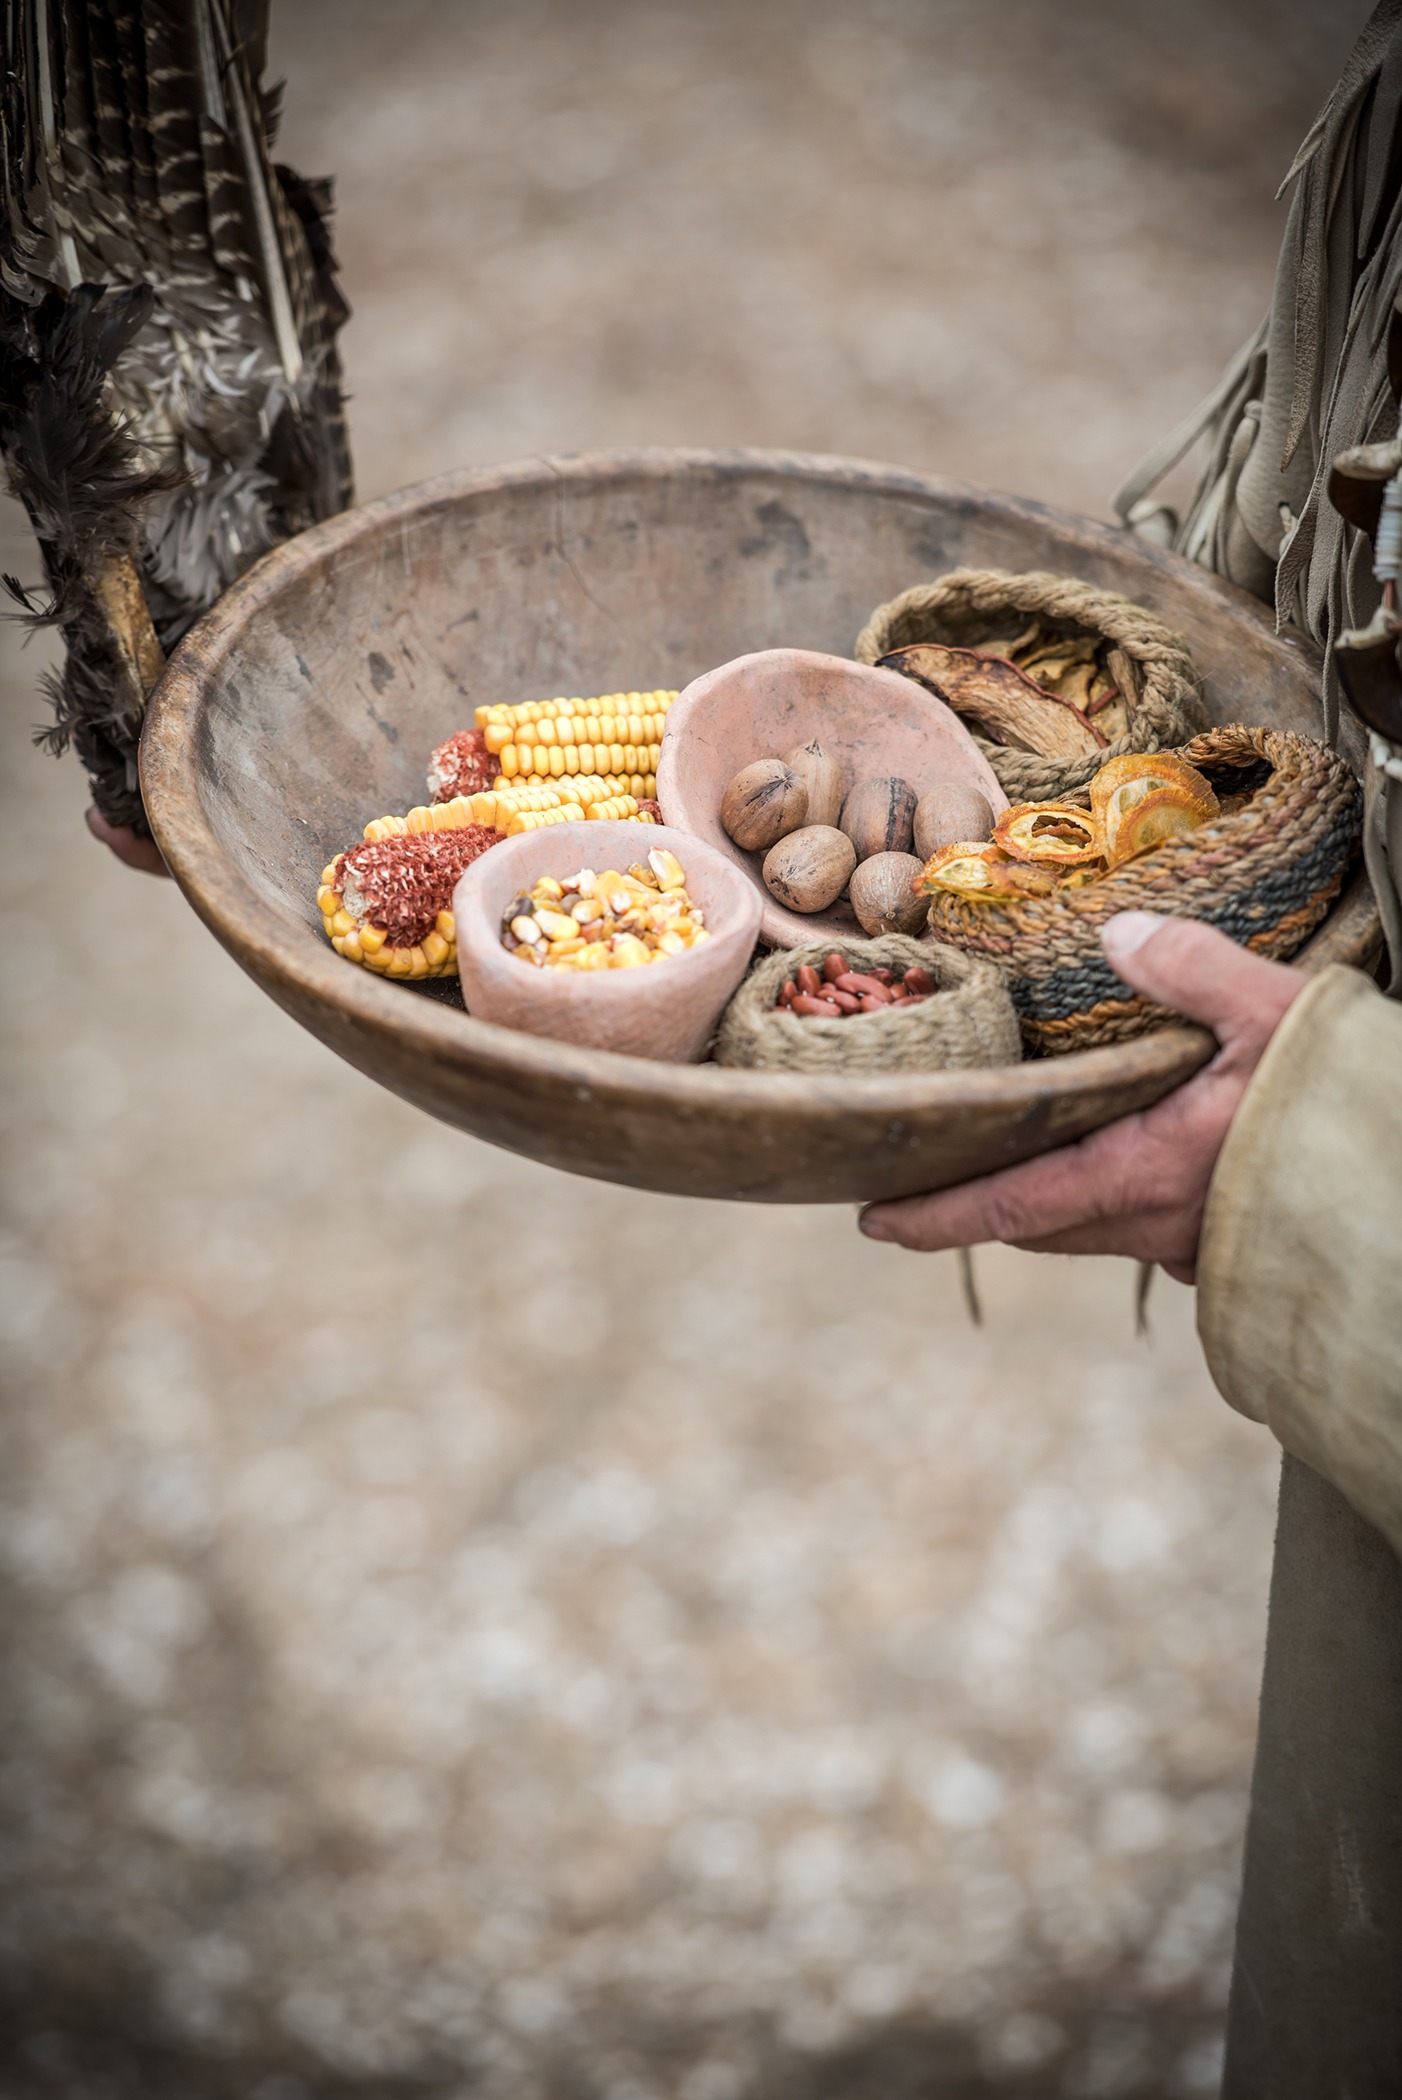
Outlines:
{"label": "blurred sandy beige ground behind and below the wooden bowl", "polygon": [[[283,0],[361,491],[1104,514],[1362,13]],[[88,842],[2,647],[4,2100],[1215,2092],[1276,1460],[1190,1294],[993,1252],[978,1331],[848,1212],[441,1130]]]}

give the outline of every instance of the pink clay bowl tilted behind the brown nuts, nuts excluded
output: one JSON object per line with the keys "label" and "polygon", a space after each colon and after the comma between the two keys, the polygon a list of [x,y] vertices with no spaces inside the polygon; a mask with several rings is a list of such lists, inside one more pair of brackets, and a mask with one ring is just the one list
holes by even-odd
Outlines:
{"label": "pink clay bowl tilted behind the brown nuts, nuts excluded", "polygon": [[819,739],[842,766],[844,790],[898,773],[915,794],[940,781],[980,788],[1001,817],[1007,796],[968,729],[942,699],[894,670],[812,649],[760,649],[693,678],[667,712],[657,800],[667,823],[693,832],[743,867],[760,892],[760,934],[770,947],[863,937],[840,899],[827,911],[787,911],[764,888],[762,853],[745,853],[720,823],[720,800],[753,758],[785,758]]}

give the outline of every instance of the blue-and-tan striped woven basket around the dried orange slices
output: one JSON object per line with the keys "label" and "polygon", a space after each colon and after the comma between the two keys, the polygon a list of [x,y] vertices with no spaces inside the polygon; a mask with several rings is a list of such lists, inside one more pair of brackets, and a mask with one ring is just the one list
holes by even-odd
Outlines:
{"label": "blue-and-tan striped woven basket around the dried orange slices", "polygon": [[940,941],[999,964],[1031,1050],[1089,1050],[1173,1018],[1106,962],[1100,928],[1117,911],[1205,920],[1257,956],[1284,958],[1339,895],[1362,796],[1337,752],[1289,729],[1232,724],[1192,737],[1180,756],[1217,796],[1251,790],[1251,800],[1085,888],[991,903],[944,892],[930,905]]}

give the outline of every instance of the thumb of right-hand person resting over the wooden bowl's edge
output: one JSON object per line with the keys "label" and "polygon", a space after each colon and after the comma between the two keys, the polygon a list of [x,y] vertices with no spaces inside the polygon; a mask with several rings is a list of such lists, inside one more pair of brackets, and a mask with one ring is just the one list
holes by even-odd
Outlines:
{"label": "thumb of right-hand person resting over the wooden bowl's edge", "polygon": [[1263,1046],[1305,989],[1299,970],[1266,962],[1198,920],[1117,911],[1100,928],[1100,941],[1110,968],[1133,991],[1201,1021],[1222,1044],[1247,1035]]}

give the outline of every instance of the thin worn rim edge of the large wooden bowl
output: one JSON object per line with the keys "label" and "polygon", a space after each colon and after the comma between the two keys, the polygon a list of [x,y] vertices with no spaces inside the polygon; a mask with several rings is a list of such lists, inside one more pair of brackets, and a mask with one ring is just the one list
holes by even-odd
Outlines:
{"label": "thin worn rim edge of the large wooden bowl", "polygon": [[[430,481],[413,483],[369,504],[344,510],[323,525],[285,540],[264,554],[183,638],[155,687],[141,739],[141,785],[151,832],[180,890],[216,934],[216,939],[254,974],[273,998],[279,987],[290,1004],[311,998],[338,1016],[346,1035],[392,1040],[432,1065],[453,1065],[483,1075],[525,1077],[573,1088],[581,1098],[598,1094],[619,1100],[665,1100],[682,1113],[705,1113],[724,1090],[730,1107],[751,1107],[756,1113],[781,1113],[812,1107],[814,1098],[831,1096],[833,1113],[844,1107],[863,1115],[890,1115],[917,1109],[953,1107],[957,1102],[1045,1107],[1047,1094],[1075,1098],[1096,1092],[1106,1082],[1142,1082],[1173,1073],[1186,1077],[1201,1067],[1215,1044],[1207,1029],[1175,1025],[1127,1044],[1100,1050],[1075,1050],[1056,1060],[1026,1060],[986,1071],[861,1075],[814,1079],[806,1073],[737,1071],[718,1065],[665,1065],[623,1056],[613,1050],[583,1050],[548,1037],[523,1035],[472,1014],[439,1006],[422,995],[405,995],[403,985],[382,983],[369,970],[346,964],[311,924],[290,928],[239,874],[220,846],[201,798],[199,716],[204,693],[229,662],[243,628],[262,613],[281,590],[315,571],[325,556],[336,556],[399,523],[430,517],[445,508],[462,508],[506,489],[560,489],[562,483],[598,487],[604,481],[638,479],[747,479],[783,475],[821,483],[842,481],[848,487],[871,487],[892,496],[934,500],[949,508],[974,506],[1003,512],[1010,521],[1043,514],[1049,527],[1075,527],[1091,546],[1119,554],[1123,529],[1054,510],[1026,498],[1010,498],[978,489],[965,481],[940,475],[915,475],[871,460],[848,460],[833,454],[735,449],[619,449],[539,456],[487,468],[455,468]],[[1190,571],[1198,588],[1213,588],[1245,611],[1266,634],[1276,636],[1270,609],[1245,590],[1222,582],[1194,563],[1161,548],[1135,542],[1150,567]],[[1320,666],[1320,651],[1299,634],[1287,640]],[[315,880],[315,869],[309,880]],[[1316,934],[1316,939],[1320,939]],[[340,1029],[338,1029],[340,1033]],[[1049,1067],[1056,1065],[1056,1086],[1049,1088]],[[1171,1084],[1171,1082],[1169,1082]]]}

